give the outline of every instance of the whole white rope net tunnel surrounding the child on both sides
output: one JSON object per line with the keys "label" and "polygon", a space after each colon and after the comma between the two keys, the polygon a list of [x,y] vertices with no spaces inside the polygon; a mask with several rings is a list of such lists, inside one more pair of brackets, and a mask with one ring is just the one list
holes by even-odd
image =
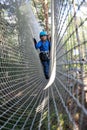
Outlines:
{"label": "whole white rope net tunnel surrounding the child on both sides", "polygon": [[8,13],[1,4],[0,130],[87,130],[87,1],[51,1],[49,81],[30,1],[4,0]]}

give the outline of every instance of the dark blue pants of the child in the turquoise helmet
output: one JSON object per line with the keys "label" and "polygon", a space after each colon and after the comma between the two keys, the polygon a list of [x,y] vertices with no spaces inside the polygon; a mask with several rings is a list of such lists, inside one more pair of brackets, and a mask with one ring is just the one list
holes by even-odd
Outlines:
{"label": "dark blue pants of the child in the turquoise helmet", "polygon": [[47,61],[41,61],[42,65],[43,65],[43,70],[44,70],[44,74],[45,77],[49,77],[49,69],[50,69],[50,60]]}

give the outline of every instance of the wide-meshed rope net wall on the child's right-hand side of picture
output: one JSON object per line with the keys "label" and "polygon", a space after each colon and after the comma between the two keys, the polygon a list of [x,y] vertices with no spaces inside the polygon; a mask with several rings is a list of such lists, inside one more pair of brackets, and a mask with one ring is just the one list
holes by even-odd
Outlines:
{"label": "wide-meshed rope net wall on the child's right-hand side of picture", "polygon": [[[87,1],[55,0],[56,80],[63,116],[76,130],[87,129]],[[66,113],[66,114],[65,114]],[[71,126],[72,127],[72,126]],[[68,128],[66,128],[67,130]]]}

